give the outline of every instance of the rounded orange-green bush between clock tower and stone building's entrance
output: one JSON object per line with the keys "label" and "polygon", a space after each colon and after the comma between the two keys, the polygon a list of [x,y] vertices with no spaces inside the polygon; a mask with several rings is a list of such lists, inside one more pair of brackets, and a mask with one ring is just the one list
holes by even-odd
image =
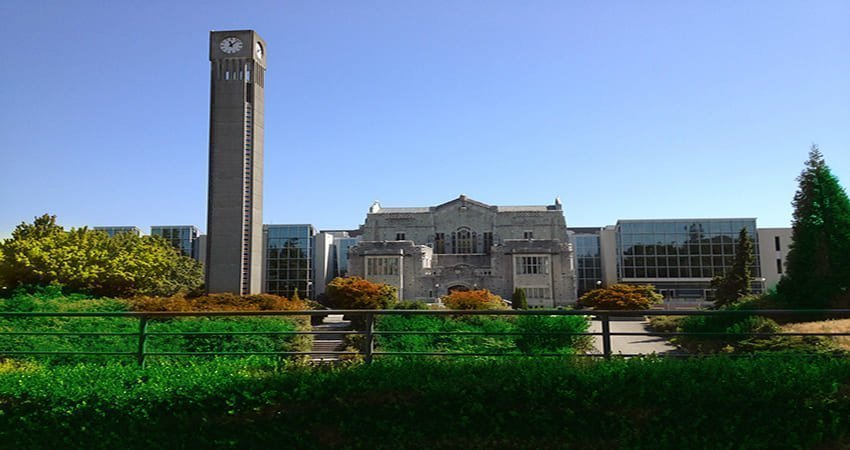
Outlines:
{"label": "rounded orange-green bush between clock tower and stone building's entrance", "polygon": [[360,277],[334,278],[325,293],[335,309],[389,309],[398,302],[395,287]]}

